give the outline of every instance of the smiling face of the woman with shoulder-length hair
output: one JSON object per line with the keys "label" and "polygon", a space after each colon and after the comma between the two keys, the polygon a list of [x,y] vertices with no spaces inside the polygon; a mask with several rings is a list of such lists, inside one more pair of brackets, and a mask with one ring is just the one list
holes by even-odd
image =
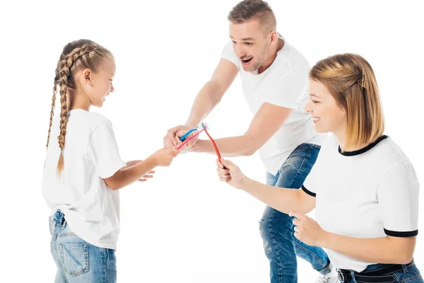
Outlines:
{"label": "smiling face of the woman with shoulder-length hair", "polygon": [[305,111],[314,122],[315,132],[343,134],[346,128],[346,114],[338,107],[329,90],[319,81],[310,79],[310,100]]}

